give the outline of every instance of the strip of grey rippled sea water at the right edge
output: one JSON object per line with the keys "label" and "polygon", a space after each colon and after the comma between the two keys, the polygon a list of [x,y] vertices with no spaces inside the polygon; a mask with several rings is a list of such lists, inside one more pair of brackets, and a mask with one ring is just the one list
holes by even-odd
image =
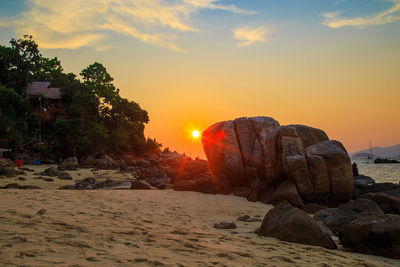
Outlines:
{"label": "strip of grey rippled sea water at the right edge", "polygon": [[357,163],[360,174],[373,178],[377,183],[397,184],[400,182],[400,164],[373,164],[369,163],[367,159],[354,158],[351,162]]}

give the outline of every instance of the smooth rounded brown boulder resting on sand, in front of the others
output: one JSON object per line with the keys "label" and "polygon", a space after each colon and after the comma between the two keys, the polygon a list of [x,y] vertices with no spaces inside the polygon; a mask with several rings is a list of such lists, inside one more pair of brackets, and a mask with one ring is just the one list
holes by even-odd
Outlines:
{"label": "smooth rounded brown boulder resting on sand, in front of the others", "polygon": [[258,235],[275,237],[282,241],[336,249],[329,232],[304,211],[281,202],[268,211]]}

